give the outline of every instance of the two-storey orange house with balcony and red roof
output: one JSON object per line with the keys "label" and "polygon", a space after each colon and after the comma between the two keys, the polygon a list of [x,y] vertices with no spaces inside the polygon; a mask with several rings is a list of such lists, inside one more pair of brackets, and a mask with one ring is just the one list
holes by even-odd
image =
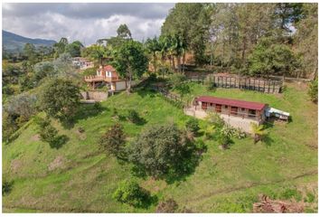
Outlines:
{"label": "two-storey orange house with balcony and red roof", "polygon": [[100,66],[96,75],[85,76],[84,80],[93,90],[99,85],[108,85],[110,90],[127,89],[127,81],[120,78],[118,72],[111,65]]}

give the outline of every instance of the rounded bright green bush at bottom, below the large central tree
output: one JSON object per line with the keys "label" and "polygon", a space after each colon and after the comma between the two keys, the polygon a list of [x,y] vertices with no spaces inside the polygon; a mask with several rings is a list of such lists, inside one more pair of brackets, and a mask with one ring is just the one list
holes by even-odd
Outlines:
{"label": "rounded bright green bush at bottom, below the large central tree", "polygon": [[112,197],[120,203],[142,207],[150,198],[150,193],[140,187],[136,181],[126,180],[118,185]]}

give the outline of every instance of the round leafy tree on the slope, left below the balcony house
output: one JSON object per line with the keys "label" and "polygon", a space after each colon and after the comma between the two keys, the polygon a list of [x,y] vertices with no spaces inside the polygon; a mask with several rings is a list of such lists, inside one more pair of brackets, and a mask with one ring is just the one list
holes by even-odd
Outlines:
{"label": "round leafy tree on the slope, left below the balcony house", "polygon": [[71,80],[54,78],[43,84],[38,102],[52,118],[68,120],[80,105],[80,89]]}

